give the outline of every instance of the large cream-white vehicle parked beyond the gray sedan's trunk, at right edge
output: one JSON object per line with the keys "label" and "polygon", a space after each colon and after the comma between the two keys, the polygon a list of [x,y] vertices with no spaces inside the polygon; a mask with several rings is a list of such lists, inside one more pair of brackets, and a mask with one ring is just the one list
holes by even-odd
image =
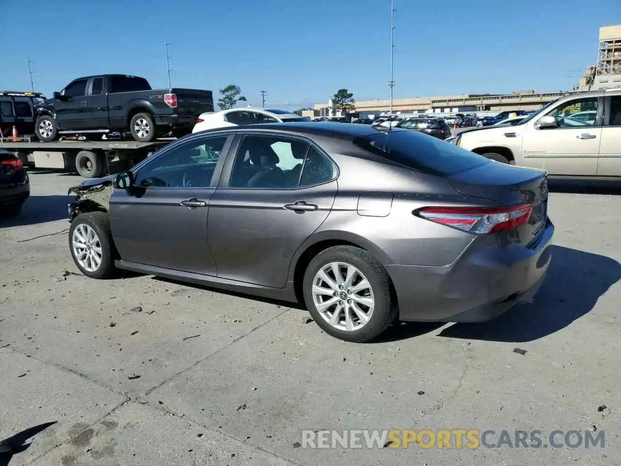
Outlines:
{"label": "large cream-white vehicle parked beyond the gray sedan's trunk, at right edge", "polygon": [[447,142],[548,175],[621,177],[621,88],[567,94],[518,124],[468,129]]}

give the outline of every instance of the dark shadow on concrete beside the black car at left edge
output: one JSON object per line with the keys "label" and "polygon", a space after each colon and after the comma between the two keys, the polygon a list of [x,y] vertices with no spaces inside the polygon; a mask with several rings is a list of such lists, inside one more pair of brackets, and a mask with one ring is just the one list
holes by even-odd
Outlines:
{"label": "dark shadow on concrete beside the black car at left edge", "polygon": [[[72,196],[30,196],[19,214],[11,217],[0,217],[0,228],[68,219],[67,204],[72,200]],[[67,227],[69,227],[68,223]]]}

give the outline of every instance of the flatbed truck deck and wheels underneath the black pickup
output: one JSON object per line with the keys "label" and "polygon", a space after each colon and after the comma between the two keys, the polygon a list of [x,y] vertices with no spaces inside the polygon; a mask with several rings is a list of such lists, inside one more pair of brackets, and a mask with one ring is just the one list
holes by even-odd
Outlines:
{"label": "flatbed truck deck and wheels underneath the black pickup", "polygon": [[0,149],[17,155],[24,167],[77,171],[84,178],[99,178],[133,167],[173,140],[176,139],[91,141],[72,137],[72,140],[40,142],[35,135],[19,137],[16,141],[0,136]]}

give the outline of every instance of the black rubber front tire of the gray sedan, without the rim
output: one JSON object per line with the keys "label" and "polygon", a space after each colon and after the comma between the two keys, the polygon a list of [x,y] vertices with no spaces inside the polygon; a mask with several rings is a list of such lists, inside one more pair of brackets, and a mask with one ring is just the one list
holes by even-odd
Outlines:
{"label": "black rubber front tire of the gray sedan, without the rim", "polygon": [[[101,247],[101,263],[94,271],[89,271],[82,267],[73,250],[73,232],[82,224],[86,224],[91,227],[99,239],[99,245]],[[108,214],[106,212],[86,212],[85,214],[79,214],[75,217],[73,222],[71,222],[71,227],[69,229],[69,250],[71,251],[73,262],[75,262],[76,267],[78,267],[79,271],[84,275],[91,278],[97,278],[99,280],[112,278],[117,271],[116,267],[114,267],[114,258],[117,254],[114,244],[112,243],[110,217]]]}

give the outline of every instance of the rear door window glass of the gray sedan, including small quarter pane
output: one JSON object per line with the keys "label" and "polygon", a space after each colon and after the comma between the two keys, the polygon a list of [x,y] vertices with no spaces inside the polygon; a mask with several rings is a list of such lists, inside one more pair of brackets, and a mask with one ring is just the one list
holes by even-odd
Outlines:
{"label": "rear door window glass of the gray sedan, including small quarter pane", "polygon": [[247,135],[233,163],[231,188],[295,189],[330,181],[333,165],[311,144],[288,137]]}

